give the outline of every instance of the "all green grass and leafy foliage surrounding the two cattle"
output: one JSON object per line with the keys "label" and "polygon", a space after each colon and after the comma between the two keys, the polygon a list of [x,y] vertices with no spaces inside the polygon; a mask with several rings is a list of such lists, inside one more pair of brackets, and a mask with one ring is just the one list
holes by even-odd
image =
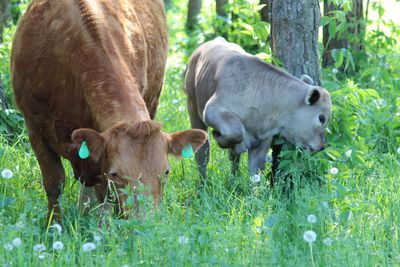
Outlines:
{"label": "all green grass and leafy foliage surrounding the two cattle", "polygon": [[[347,36],[344,17],[351,1],[333,2],[344,8],[324,17],[321,26],[328,25],[332,36],[361,38]],[[157,120],[169,132],[190,127],[182,73],[199,44],[223,34],[279,65],[271,55],[269,25],[260,19],[258,2],[234,1],[225,18],[207,3],[191,32],[184,28],[186,2],[168,6],[170,53]],[[12,4],[13,23],[0,47],[0,73],[10,103],[10,46],[26,2]],[[312,258],[318,266],[400,265],[400,25],[385,19],[390,9],[398,11],[399,4],[371,1],[371,18],[363,22],[363,50],[332,52],[334,64],[323,69],[323,86],[333,101],[329,147],[317,154],[285,151],[280,182],[273,189],[268,168],[260,184],[250,182],[246,159],[240,175],[232,177],[225,151],[212,141],[206,189],[197,189],[194,160],[171,159],[173,171],[156,212],[149,208],[140,220],[110,218],[108,228],[98,229],[96,210],[82,216],[75,207],[78,184],[65,162],[63,230],[44,229],[46,198],[37,161],[21,134],[21,116],[12,104],[0,111],[0,171],[14,173],[0,179],[0,264],[310,266]],[[322,55],[322,43],[320,49]],[[315,223],[307,221],[310,214]],[[311,247],[303,240],[306,230],[317,234]],[[9,250],[15,238],[22,244]],[[63,242],[61,252],[52,249],[54,241]],[[96,249],[84,251],[86,242]],[[40,243],[47,247],[44,252],[34,250]]]}

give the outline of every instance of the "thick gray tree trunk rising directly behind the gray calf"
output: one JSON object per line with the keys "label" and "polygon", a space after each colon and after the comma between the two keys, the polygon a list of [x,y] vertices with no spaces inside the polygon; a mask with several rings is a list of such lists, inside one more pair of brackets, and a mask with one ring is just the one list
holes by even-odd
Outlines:
{"label": "thick gray tree trunk rising directly behind the gray calf", "polygon": [[318,28],[321,19],[318,0],[272,2],[272,51],[294,76],[309,75],[321,84]]}

